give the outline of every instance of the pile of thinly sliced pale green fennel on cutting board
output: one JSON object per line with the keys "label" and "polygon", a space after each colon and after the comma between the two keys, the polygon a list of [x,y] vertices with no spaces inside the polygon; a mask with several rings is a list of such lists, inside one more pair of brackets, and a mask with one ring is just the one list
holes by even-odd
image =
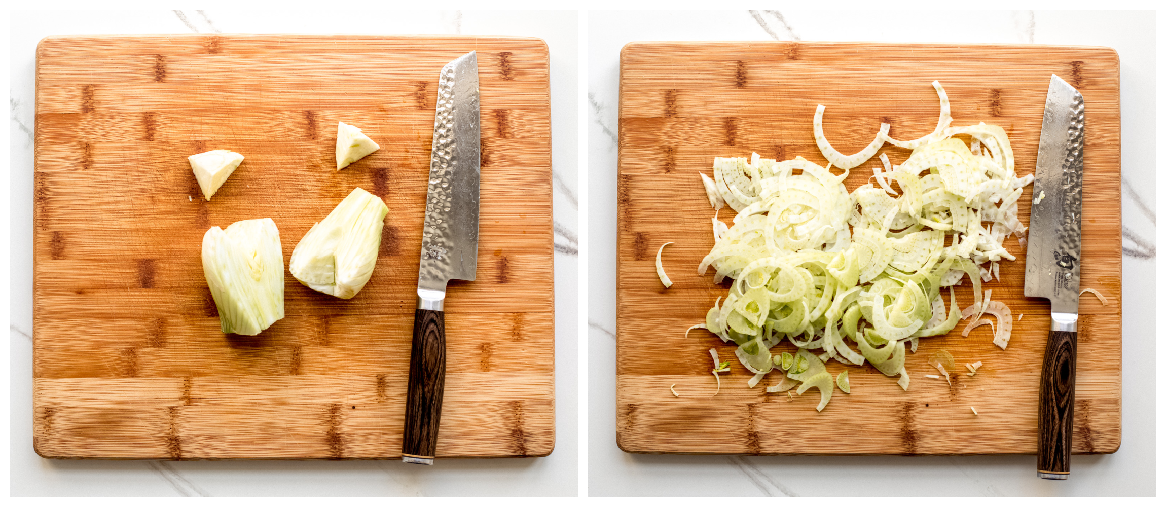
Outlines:
{"label": "pile of thinly sliced pale green fennel on cutting board", "polygon": [[[835,386],[824,364],[834,359],[869,361],[887,376],[900,376],[907,389],[907,344],[914,352],[919,338],[944,335],[964,314],[979,319],[988,310],[981,282],[998,276],[996,262],[1016,260],[1003,242],[1011,234],[1024,238],[1017,199],[1033,176],[1017,177],[1003,128],[951,127],[947,93],[939,82],[932,85],[940,96],[940,120],[923,138],[898,141],[884,126],[865,149],[842,155],[822,134],[824,107],[819,106],[814,133],[830,162],[826,168],[801,156],[778,162],[754,153],[751,160],[717,157],[714,177],[701,175],[717,213],[728,204],[737,216],[731,227],[718,214],[712,218],[716,245],[697,272],[711,267],[715,282],[733,282],[698,326],[738,345],[738,360],[754,373],[750,387],[777,369],[782,378],[766,390],[788,390],[800,381],[799,394],[819,388],[822,410]],[[957,134],[969,135],[971,146]],[[893,167],[883,154],[884,170],[874,169],[878,185],[847,192],[849,169],[874,156],[884,142],[913,152]],[[835,175],[830,166],[844,170]],[[962,283],[965,274],[975,304],[961,311],[949,289],[948,310],[941,288]],[[992,303],[993,309],[999,304]],[[1002,348],[1011,314],[1007,319],[995,331]],[[782,339],[798,347],[785,361],[771,353]]]}

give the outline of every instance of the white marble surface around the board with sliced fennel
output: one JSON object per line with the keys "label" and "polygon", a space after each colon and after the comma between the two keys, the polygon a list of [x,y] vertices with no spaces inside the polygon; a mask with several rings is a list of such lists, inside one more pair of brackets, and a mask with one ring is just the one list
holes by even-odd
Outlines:
{"label": "white marble surface around the board with sliced fennel", "polygon": [[[1154,494],[1154,14],[1045,12],[592,12],[588,19],[591,495]],[[1125,302],[1123,445],[1037,478],[1035,457],[647,456],[616,446],[616,132],[619,50],[632,41],[772,40],[1108,45],[1122,72]],[[1147,272],[1151,273],[1147,276]],[[1125,276],[1130,275],[1130,276]]]}

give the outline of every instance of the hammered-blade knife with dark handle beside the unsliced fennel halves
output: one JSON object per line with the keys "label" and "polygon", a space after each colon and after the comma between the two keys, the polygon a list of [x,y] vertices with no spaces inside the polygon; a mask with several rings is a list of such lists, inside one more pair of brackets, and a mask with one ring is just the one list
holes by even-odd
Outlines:
{"label": "hammered-blade knife with dark handle beside the unsliced fennel halves", "polygon": [[433,465],[437,456],[445,388],[445,282],[472,281],[478,268],[479,119],[478,56],[470,51],[445,64],[437,80],[401,444],[405,463]]}

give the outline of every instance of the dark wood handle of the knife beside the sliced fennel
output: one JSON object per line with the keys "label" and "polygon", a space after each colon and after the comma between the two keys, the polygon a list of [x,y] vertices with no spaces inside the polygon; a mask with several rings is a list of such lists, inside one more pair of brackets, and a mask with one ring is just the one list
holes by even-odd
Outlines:
{"label": "dark wood handle of the knife beside the sliced fennel", "polygon": [[1076,371],[1076,331],[1049,331],[1037,416],[1037,474],[1042,479],[1069,478]]}

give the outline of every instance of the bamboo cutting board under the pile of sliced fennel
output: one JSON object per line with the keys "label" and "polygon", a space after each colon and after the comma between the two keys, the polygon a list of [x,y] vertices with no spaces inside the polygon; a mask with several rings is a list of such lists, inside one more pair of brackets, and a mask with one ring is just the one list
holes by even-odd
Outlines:
{"label": "bamboo cutting board under the pile of sliced fennel", "polygon": [[[1024,296],[1025,247],[1005,242],[1016,261],[1002,262],[1000,281],[985,283],[992,300],[1018,317],[1006,351],[992,345],[988,326],[968,338],[957,331],[923,338],[908,354],[911,388],[904,392],[873,367],[850,368],[852,394],[835,390],[815,411],[816,390],[802,396],[766,394],[733,355],[736,346],[714,335],[684,330],[728,284],[712,283],[696,266],[712,247],[712,209],[698,171],[712,175],[716,156],[827,161],[813,138],[814,110],[827,106],[823,128],[842,153],[865,147],[880,122],[891,135],[930,133],[939,79],[951,101],[954,126],[981,121],[1004,127],[1017,172],[1034,171],[1049,75],[1086,100],[1086,181],[1081,287],[1109,297],[1081,298],[1074,452],[1114,452],[1121,444],[1122,245],[1118,59],[1108,48],[1040,45],[936,45],[786,42],[645,42],[624,48],[619,100],[619,241],[617,439],[628,452],[978,455],[1035,453],[1037,396],[1049,328],[1047,300]],[[967,140],[965,140],[967,141]],[[891,162],[909,152],[885,145]],[[851,170],[850,190],[866,183],[878,159]],[[835,171],[836,174],[838,171]],[[1027,224],[1032,186],[1020,198]],[[729,224],[730,207],[721,211]],[[655,274],[660,245],[674,284]],[[946,293],[946,291],[944,291]],[[944,298],[947,296],[944,295]],[[970,283],[956,290],[971,304]],[[732,372],[721,393],[710,374],[716,347]],[[927,365],[949,351],[960,365],[949,387]],[[789,350],[788,341],[774,348]],[[965,362],[983,361],[975,376]],[[669,387],[675,385],[680,397]],[[979,415],[972,414],[976,407]]]}

